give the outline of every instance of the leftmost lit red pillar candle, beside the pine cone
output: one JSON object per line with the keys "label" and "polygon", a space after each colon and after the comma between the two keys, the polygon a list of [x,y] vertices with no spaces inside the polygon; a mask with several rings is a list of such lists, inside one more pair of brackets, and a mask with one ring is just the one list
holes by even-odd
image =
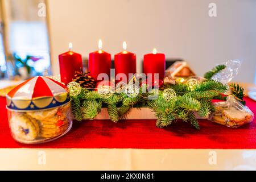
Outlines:
{"label": "leftmost lit red pillar candle, beside the pine cone", "polygon": [[81,71],[82,56],[72,52],[72,43],[69,43],[69,51],[59,55],[60,79],[64,84],[72,81],[76,71]]}

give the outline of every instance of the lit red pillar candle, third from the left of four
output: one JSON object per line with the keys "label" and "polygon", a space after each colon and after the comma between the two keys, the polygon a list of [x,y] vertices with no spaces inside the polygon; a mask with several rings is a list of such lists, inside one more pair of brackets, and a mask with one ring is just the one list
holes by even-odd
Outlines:
{"label": "lit red pillar candle, third from the left of four", "polygon": [[[114,64],[115,64],[115,79],[117,82],[129,81],[129,73],[136,73],[136,55],[135,53],[131,53],[126,51],[127,44],[123,42],[123,51],[119,52],[115,55]],[[123,73],[126,78],[118,77],[119,73]]]}

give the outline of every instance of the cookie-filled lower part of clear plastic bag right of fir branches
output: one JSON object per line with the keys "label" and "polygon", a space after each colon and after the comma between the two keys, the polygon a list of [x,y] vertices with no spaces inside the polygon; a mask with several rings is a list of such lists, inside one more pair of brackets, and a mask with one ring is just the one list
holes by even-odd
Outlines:
{"label": "cookie-filled lower part of clear plastic bag right of fir branches", "polygon": [[214,103],[214,107],[216,111],[209,119],[221,125],[237,128],[253,121],[253,112],[234,96],[228,96],[226,102]]}

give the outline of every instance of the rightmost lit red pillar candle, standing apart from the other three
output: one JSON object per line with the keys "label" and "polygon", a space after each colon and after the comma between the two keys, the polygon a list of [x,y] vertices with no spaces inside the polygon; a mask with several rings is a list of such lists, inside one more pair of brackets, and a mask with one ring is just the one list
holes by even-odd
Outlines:
{"label": "rightmost lit red pillar candle, standing apart from the other three", "polygon": [[[143,61],[143,72],[147,75],[148,73],[152,74],[152,81],[154,81],[154,73],[159,74],[159,79],[164,79],[164,72],[166,70],[166,56],[163,53],[156,53],[156,49],[153,50],[153,53],[148,53],[144,55]],[[151,76],[148,76],[150,79]]]}

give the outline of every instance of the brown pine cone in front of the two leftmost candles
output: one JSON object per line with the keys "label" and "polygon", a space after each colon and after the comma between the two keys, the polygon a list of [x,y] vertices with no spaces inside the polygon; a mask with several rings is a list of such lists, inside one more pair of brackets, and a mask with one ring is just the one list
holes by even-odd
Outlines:
{"label": "brown pine cone in front of the two leftmost candles", "polygon": [[96,87],[96,81],[94,78],[88,75],[90,72],[83,72],[82,69],[80,72],[75,72],[75,77],[72,81],[79,83],[82,88],[94,89]]}

